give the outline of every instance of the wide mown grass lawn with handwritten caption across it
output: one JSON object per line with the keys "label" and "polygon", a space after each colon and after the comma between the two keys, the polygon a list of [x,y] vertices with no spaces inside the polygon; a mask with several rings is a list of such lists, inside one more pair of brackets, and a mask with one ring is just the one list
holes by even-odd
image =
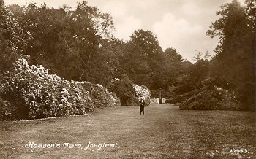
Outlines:
{"label": "wide mown grass lawn with handwritten caption across it", "polygon": [[[145,109],[145,115],[139,107],[118,106],[88,116],[0,122],[0,158],[256,158],[255,112],[188,111],[171,104]],[[26,148],[29,142],[54,147]],[[85,150],[89,142],[98,147]],[[117,146],[98,151],[104,143]]]}

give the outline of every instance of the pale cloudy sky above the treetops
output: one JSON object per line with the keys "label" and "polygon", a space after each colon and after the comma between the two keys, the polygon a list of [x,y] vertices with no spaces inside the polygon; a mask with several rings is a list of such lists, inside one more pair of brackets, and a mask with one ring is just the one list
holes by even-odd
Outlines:
{"label": "pale cloudy sky above the treetops", "polygon": [[[156,34],[163,50],[173,47],[184,59],[192,60],[198,51],[213,53],[218,39],[206,36],[206,31],[218,17],[219,6],[232,0],[87,0],[102,12],[113,17],[119,39],[129,40],[135,29]],[[238,0],[244,4],[244,0]],[[26,5],[31,0],[4,0],[5,4]],[[49,7],[68,4],[75,7],[77,0],[34,0]]]}

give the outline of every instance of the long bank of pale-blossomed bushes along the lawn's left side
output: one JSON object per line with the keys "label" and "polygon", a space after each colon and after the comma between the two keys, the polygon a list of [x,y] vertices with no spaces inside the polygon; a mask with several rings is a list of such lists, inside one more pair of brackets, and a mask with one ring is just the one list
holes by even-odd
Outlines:
{"label": "long bank of pale-blossomed bushes along the lawn's left side", "polygon": [[29,65],[24,58],[15,61],[14,69],[4,75],[1,83],[2,118],[82,115],[93,111],[94,106],[118,105],[116,96],[102,86],[69,82],[49,74],[42,66]]}

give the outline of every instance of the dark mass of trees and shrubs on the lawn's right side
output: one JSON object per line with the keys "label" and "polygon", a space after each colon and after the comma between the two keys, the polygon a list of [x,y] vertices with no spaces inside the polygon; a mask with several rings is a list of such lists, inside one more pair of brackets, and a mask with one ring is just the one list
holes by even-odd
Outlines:
{"label": "dark mass of trees and shrubs on the lawn's right side", "polygon": [[[200,53],[195,57],[197,62],[176,90],[184,93],[181,109],[255,109],[255,3],[246,4],[241,7],[233,0],[220,7],[221,18],[207,31],[208,36],[219,36],[214,58],[208,61]],[[230,93],[236,101],[226,98]]]}

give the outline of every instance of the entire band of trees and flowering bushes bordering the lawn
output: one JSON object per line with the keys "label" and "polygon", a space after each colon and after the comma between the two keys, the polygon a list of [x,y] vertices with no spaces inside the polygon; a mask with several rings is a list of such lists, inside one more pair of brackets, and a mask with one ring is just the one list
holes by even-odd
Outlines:
{"label": "entire band of trees and flowering bushes bordering the lawn", "polygon": [[[228,109],[225,100],[230,109],[237,109],[234,104],[252,109],[255,1],[241,7],[233,0],[220,9],[219,20],[206,32],[219,36],[214,57],[199,52],[192,64],[175,48],[162,50],[151,31],[138,29],[128,42],[116,39],[111,16],[86,1],[74,9],[54,9],[35,3],[6,7],[0,0],[1,117],[83,114],[94,106],[138,105],[141,98],[148,103],[150,93],[181,102],[182,109]],[[34,65],[23,60],[25,55]],[[233,93],[237,101],[216,98],[215,88]]]}

